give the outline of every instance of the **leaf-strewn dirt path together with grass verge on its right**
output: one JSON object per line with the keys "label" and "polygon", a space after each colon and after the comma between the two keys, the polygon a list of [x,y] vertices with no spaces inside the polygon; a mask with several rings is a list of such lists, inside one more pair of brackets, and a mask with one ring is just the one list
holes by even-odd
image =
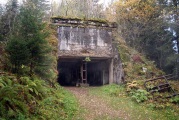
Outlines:
{"label": "leaf-strewn dirt path together with grass verge on its right", "polygon": [[118,96],[111,96],[109,86],[65,89],[79,102],[80,110],[75,120],[179,120],[178,110],[157,110],[135,103],[123,90]]}

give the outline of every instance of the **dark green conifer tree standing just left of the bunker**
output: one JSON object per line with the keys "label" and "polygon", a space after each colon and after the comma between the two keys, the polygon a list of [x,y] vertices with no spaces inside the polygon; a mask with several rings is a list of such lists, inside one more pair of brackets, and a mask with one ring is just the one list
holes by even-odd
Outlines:
{"label": "dark green conifer tree standing just left of the bunker", "polygon": [[46,41],[48,33],[44,30],[45,24],[38,14],[38,10],[27,6],[20,12],[20,33],[29,50],[30,75],[33,75],[38,67],[48,66],[47,59],[50,52]]}

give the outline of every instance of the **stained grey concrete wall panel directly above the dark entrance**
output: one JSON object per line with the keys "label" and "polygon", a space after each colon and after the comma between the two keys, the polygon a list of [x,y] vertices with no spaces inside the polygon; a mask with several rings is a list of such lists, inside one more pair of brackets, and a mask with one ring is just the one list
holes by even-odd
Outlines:
{"label": "stained grey concrete wall panel directly above the dark entrance", "polygon": [[58,56],[112,57],[112,30],[58,27]]}

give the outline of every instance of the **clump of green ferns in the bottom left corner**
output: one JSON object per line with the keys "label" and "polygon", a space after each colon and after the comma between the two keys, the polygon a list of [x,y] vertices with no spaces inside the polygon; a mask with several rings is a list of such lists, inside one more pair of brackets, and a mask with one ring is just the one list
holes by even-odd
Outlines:
{"label": "clump of green ferns in the bottom left corner", "polygon": [[45,95],[46,88],[42,80],[0,77],[0,115],[6,119],[28,117],[36,111],[38,102],[45,98]]}

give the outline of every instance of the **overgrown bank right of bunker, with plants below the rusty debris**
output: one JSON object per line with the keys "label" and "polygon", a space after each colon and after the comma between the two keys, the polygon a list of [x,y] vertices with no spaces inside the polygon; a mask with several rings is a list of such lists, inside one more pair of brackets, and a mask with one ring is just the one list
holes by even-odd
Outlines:
{"label": "overgrown bank right of bunker, with plants below the rusty debris", "polygon": [[[108,91],[110,95],[115,95],[116,97],[120,94],[125,94],[131,101],[139,105],[144,105],[151,109],[173,109],[176,108],[179,111],[179,99],[178,96],[173,98],[166,98],[170,96],[170,92],[159,93],[156,91],[153,95],[146,91],[144,87],[144,81],[155,78],[161,75],[165,75],[163,71],[158,69],[154,61],[150,61],[145,55],[139,53],[134,48],[129,47],[126,42],[117,34],[115,34],[115,40],[118,44],[118,51],[120,53],[120,58],[123,63],[125,82],[126,84],[122,92],[119,92],[121,88],[119,86],[110,85],[103,89]],[[177,81],[169,81],[176,93],[179,93],[179,84]],[[152,84],[153,85],[153,84]],[[157,85],[155,85],[157,86]],[[154,86],[150,86],[153,88]],[[109,89],[108,89],[109,88]],[[120,88],[120,89],[118,89]]]}

